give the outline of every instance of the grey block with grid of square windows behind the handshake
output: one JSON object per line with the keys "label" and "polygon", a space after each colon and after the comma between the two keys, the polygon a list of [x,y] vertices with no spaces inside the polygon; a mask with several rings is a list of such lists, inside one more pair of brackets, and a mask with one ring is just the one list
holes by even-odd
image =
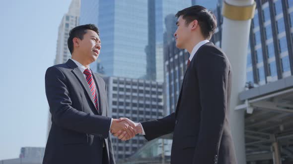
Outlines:
{"label": "grey block with grid of square windows behind the handshake", "polygon": [[[138,123],[165,115],[162,82],[120,77],[105,77],[104,80],[108,90],[109,112],[113,119],[127,117]],[[146,139],[142,135],[128,141],[112,136],[115,159],[128,158],[145,143]]]}

